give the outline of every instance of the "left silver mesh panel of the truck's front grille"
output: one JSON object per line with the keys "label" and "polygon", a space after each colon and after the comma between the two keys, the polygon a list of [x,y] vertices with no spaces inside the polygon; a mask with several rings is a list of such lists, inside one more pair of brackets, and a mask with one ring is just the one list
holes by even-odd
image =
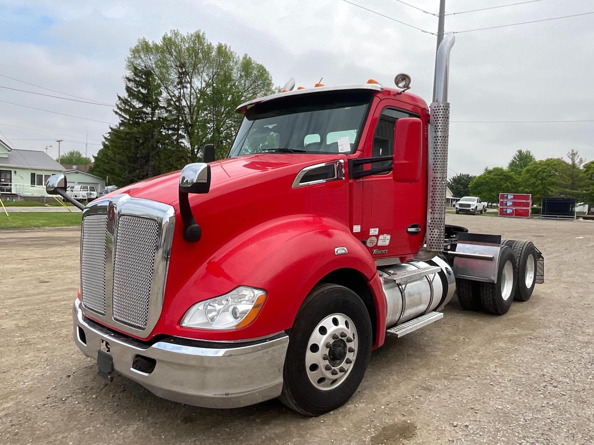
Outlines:
{"label": "left silver mesh panel of the truck's front grille", "polygon": [[83,220],[80,250],[81,296],[84,306],[105,314],[105,231],[107,215],[89,215]]}

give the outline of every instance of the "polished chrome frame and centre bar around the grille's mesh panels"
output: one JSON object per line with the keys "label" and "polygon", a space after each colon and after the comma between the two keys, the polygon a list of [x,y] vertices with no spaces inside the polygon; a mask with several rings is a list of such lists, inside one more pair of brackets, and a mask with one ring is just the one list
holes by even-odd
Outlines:
{"label": "polished chrome frame and centre bar around the grille's mesh panels", "polygon": [[[119,330],[138,336],[148,336],[159,320],[163,309],[163,298],[165,296],[165,285],[169,270],[169,258],[173,242],[173,230],[175,229],[175,209],[168,204],[150,201],[149,199],[131,198],[126,193],[112,196],[109,199],[99,199],[91,202],[83,211],[83,219],[88,215],[107,214],[110,206],[114,208],[113,224],[108,222],[105,245],[105,314],[102,315],[83,306],[83,312],[91,318],[113,326]],[[160,224],[159,243],[154,259],[153,281],[151,282],[149,317],[145,329],[137,329],[125,325],[113,319],[113,266],[115,260],[115,241],[118,236],[118,220],[122,215],[129,215],[139,218],[149,218]],[[81,255],[83,253],[81,243]],[[160,278],[160,279],[159,279]],[[80,279],[82,289],[82,275]]]}

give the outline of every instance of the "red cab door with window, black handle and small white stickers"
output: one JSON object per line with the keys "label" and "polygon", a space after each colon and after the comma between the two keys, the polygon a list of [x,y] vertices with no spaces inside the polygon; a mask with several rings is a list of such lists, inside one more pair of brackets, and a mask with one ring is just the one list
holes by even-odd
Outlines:
{"label": "red cab door with window, black handle and small white stickers", "polygon": [[[421,249],[426,220],[426,115],[402,109],[402,104],[383,100],[378,104],[365,141],[364,157],[371,158],[371,169],[385,167],[384,173],[371,174],[363,181],[362,240],[374,258],[401,260]],[[389,167],[394,152],[396,122],[403,117],[422,119],[421,178],[416,182],[395,182]],[[373,161],[378,158],[378,161]]]}

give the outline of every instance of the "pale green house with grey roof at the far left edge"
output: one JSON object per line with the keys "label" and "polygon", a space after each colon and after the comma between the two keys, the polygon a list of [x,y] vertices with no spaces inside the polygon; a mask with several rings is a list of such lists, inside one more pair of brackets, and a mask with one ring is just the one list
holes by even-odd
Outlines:
{"label": "pale green house with grey roof at the far left edge", "polygon": [[64,170],[43,151],[16,150],[0,139],[0,197],[26,199],[50,196],[45,182]]}

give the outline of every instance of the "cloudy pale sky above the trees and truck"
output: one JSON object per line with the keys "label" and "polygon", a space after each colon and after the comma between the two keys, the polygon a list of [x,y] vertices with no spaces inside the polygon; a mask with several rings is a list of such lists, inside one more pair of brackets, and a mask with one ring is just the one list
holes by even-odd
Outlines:
{"label": "cloudy pale sky above the trees and truck", "polygon": [[[397,0],[349,1],[437,30],[437,18]],[[447,12],[521,1],[447,0]],[[429,12],[437,12],[439,3],[406,2]],[[591,0],[538,0],[453,14],[445,30],[592,11]],[[139,37],[157,40],[172,28],[201,29],[211,41],[249,53],[277,85],[294,77],[308,86],[323,77],[326,85],[375,78],[389,86],[394,74],[406,72],[412,92],[431,99],[435,36],[343,0],[0,0],[0,138],[15,148],[52,145],[48,153],[56,157],[55,139],[64,139],[63,151],[84,153],[88,134],[88,153],[96,154],[109,123],[116,122],[110,107],[10,90],[62,96],[11,78],[113,103],[123,90],[129,48]],[[594,120],[592,42],[594,14],[458,33],[450,72],[450,175],[505,166],[518,148],[537,158],[562,157],[575,148],[594,159],[594,122],[463,122]]]}

